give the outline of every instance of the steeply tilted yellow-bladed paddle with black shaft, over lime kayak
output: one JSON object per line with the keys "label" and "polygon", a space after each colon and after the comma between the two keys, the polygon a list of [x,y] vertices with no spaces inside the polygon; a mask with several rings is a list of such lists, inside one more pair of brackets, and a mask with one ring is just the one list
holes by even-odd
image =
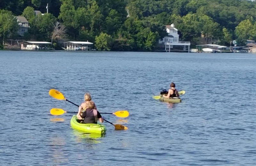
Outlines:
{"label": "steeply tilted yellow-bladed paddle with black shaft, over lime kayak", "polygon": [[[51,89],[51,90],[49,91],[49,94],[50,94],[50,96],[52,96],[52,97],[55,98],[55,99],[58,99],[58,100],[66,100],[67,102],[70,102],[68,99],[66,99],[66,98],[64,97],[64,95],[63,95],[61,92],[59,92],[59,91],[57,91],[57,90],[55,90],[55,89]],[[72,104],[76,105],[77,107],[79,107],[79,105],[77,105],[77,104],[75,104],[75,103],[73,103],[73,102],[70,102],[70,103],[72,103]],[[103,119],[104,119],[106,122],[108,122],[105,118],[103,118]],[[111,123],[111,122],[108,122],[108,123],[114,125],[116,130],[127,130],[127,129],[128,129],[128,127],[123,126],[123,125],[121,125],[121,124],[113,124],[113,123]]]}

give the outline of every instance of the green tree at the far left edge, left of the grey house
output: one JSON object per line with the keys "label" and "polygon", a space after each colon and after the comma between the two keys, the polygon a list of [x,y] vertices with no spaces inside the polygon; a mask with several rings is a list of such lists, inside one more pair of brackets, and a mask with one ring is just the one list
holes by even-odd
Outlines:
{"label": "green tree at the far left edge, left of the grey house", "polygon": [[5,38],[12,33],[17,33],[18,29],[17,19],[12,15],[12,12],[0,10],[0,36],[3,39],[3,46]]}

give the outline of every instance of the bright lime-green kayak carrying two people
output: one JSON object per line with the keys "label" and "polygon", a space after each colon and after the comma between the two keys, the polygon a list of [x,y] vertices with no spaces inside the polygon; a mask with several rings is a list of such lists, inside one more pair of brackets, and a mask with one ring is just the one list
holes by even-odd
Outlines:
{"label": "bright lime-green kayak carrying two people", "polygon": [[74,115],[70,120],[71,127],[77,130],[90,133],[104,134],[106,132],[106,127],[103,124],[82,124],[79,122],[80,120],[78,120],[76,115]]}

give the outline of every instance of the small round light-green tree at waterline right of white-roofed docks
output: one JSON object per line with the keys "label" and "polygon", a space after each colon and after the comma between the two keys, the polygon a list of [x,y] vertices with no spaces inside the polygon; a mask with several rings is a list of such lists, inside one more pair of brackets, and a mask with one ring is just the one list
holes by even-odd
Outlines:
{"label": "small round light-green tree at waterline right of white-roofed docks", "polygon": [[100,51],[109,51],[112,44],[110,35],[101,32],[99,36],[95,37],[95,47]]}

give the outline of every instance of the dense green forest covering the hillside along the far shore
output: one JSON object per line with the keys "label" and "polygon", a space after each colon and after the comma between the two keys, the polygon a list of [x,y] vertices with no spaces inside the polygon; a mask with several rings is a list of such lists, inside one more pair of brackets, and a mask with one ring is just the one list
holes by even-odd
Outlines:
{"label": "dense green forest covering the hillside along the far shore", "polygon": [[[22,37],[13,16],[29,22]],[[0,6],[0,38],[49,41],[54,48],[66,39],[93,42],[98,50],[153,51],[165,25],[174,23],[180,40],[193,45],[202,35],[221,45],[233,39],[244,45],[256,39],[255,19],[256,2],[247,0],[10,0]],[[54,25],[64,33],[54,36]]]}

